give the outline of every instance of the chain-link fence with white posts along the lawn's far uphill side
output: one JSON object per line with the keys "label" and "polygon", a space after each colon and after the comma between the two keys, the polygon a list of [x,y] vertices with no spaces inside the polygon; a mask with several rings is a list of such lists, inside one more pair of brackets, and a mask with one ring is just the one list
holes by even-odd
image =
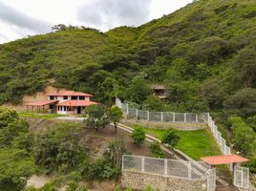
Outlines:
{"label": "chain-link fence with white posts along the lawn's far uphill side", "polygon": [[175,112],[150,112],[146,110],[138,110],[129,107],[129,104],[122,103],[116,99],[117,107],[121,108],[127,118],[136,118],[148,121],[160,122],[187,122],[187,123],[207,123],[207,113],[175,113]]}

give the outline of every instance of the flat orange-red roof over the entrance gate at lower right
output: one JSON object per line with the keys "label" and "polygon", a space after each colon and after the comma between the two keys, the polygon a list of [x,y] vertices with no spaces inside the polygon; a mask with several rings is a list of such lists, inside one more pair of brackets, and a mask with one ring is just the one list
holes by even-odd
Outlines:
{"label": "flat orange-red roof over the entrance gate at lower right", "polygon": [[237,155],[213,156],[213,157],[204,157],[201,159],[210,165],[229,164],[229,163],[244,162],[249,160]]}

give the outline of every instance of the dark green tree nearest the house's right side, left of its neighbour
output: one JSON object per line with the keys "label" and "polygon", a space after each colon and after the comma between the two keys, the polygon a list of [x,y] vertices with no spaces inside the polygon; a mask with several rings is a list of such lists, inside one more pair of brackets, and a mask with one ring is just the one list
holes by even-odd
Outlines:
{"label": "dark green tree nearest the house's right side, left of its neighbour", "polygon": [[97,130],[104,128],[108,123],[105,108],[100,105],[90,105],[85,110],[85,122]]}

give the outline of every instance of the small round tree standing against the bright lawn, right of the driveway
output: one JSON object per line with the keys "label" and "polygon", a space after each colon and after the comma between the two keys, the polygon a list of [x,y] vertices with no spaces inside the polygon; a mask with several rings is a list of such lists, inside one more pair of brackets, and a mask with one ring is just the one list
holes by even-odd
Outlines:
{"label": "small round tree standing against the bright lawn, right of the driveway", "polygon": [[180,137],[178,136],[178,132],[172,129],[168,129],[162,137],[160,138],[161,143],[168,144],[168,146],[173,149],[178,144]]}

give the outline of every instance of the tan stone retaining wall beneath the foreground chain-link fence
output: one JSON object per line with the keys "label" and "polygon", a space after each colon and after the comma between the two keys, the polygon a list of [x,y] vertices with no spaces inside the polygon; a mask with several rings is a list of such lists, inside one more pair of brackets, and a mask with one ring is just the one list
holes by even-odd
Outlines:
{"label": "tan stone retaining wall beneath the foreground chain-link fence", "polygon": [[174,177],[163,177],[149,173],[123,170],[121,177],[122,186],[136,190],[143,190],[150,185],[154,190],[160,191],[205,191],[205,180],[186,180]]}

